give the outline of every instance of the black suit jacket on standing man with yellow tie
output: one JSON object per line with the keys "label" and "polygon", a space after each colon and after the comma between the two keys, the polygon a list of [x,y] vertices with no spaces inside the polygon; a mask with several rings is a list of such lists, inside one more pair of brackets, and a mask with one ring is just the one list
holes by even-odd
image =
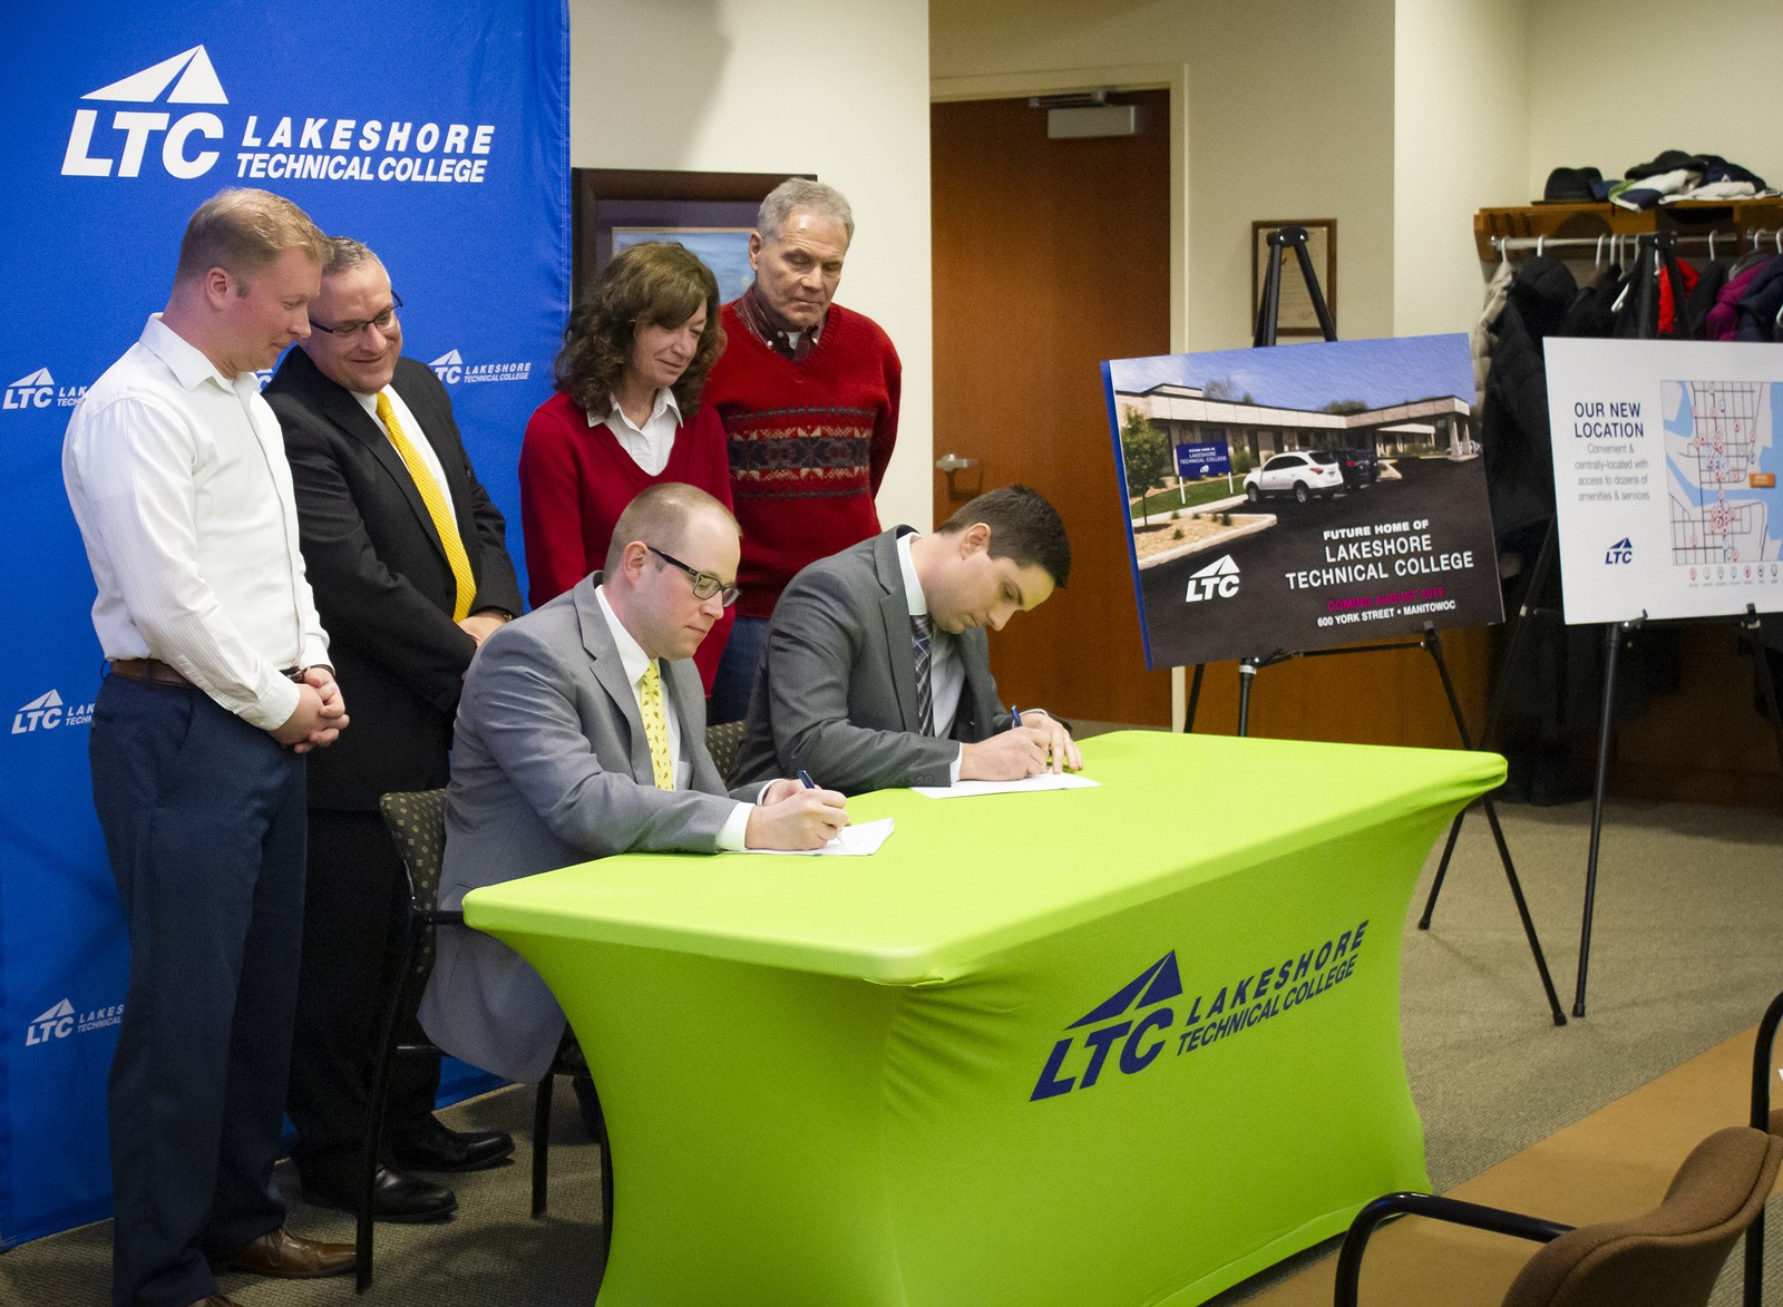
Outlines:
{"label": "black suit jacket on standing man with yellow tie", "polygon": [[[426,364],[392,382],[446,471],[476,599],[521,612],[501,514],[471,471],[451,401]],[[476,640],[451,619],[456,583],[414,478],[349,390],[291,349],[266,387],[285,432],[303,565],[351,726],[310,754],[310,806],[367,810],[385,790],[446,785],[446,752]]]}

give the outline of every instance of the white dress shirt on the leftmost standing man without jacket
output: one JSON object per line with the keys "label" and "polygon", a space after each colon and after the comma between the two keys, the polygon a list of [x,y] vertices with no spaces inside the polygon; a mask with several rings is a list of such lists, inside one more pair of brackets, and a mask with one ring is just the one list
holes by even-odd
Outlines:
{"label": "white dress shirt on the leftmost standing man without jacket", "polygon": [[298,708],[282,669],[326,663],[328,635],[259,378],[223,376],[155,314],[75,407],[62,481],[105,656],[159,658],[253,726],[282,726]]}

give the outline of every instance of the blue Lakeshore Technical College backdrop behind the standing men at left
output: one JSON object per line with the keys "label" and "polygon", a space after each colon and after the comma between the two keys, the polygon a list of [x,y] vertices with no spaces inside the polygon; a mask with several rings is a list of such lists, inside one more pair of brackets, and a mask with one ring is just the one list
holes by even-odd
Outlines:
{"label": "blue Lakeshore Technical College backdrop behind the standing men at left", "polygon": [[[230,185],[357,235],[403,296],[519,547],[515,462],[569,305],[563,0],[37,5],[0,50],[0,1246],[105,1216],[127,950],[93,817],[103,672],[61,446]],[[267,373],[269,376],[271,373]]]}

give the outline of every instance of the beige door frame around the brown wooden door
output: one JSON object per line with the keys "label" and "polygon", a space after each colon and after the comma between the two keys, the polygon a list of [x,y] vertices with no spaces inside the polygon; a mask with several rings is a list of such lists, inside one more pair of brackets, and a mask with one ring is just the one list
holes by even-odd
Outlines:
{"label": "beige door frame around the brown wooden door", "polygon": [[[931,77],[929,103],[956,100],[1018,100],[1034,95],[1073,91],[1157,91],[1170,93],[1170,351],[1182,353],[1189,339],[1189,66],[1187,64],[1109,64],[1102,68],[1057,68],[1029,73],[968,73]],[[929,424],[931,433],[934,424]],[[931,435],[933,440],[933,435]],[[931,462],[934,460],[934,449]],[[1182,667],[1170,669],[1170,722],[1182,729],[1187,711],[1187,678]]]}

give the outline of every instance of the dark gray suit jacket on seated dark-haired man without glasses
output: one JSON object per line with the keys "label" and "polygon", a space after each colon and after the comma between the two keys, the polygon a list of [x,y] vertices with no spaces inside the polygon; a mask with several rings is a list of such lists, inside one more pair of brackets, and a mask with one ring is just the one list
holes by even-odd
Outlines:
{"label": "dark gray suit jacket on seated dark-haired man without glasses", "polygon": [[982,629],[952,637],[965,665],[952,738],[922,735],[900,526],[799,572],[781,594],[736,754],[742,781],[793,776],[843,793],[947,785],[961,744],[1007,729]]}

